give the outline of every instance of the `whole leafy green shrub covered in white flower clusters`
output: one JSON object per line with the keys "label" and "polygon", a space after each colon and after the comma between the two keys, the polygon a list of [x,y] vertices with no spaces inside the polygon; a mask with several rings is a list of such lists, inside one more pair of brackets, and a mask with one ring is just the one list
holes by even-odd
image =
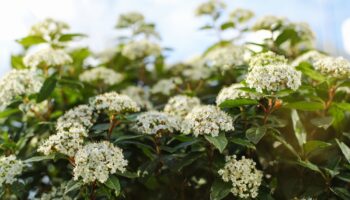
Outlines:
{"label": "whole leafy green shrub covered in white flower clusters", "polygon": [[350,62],[307,24],[225,9],[198,7],[217,42],[175,64],[137,12],[102,53],[33,25],[0,79],[1,199],[350,199]]}

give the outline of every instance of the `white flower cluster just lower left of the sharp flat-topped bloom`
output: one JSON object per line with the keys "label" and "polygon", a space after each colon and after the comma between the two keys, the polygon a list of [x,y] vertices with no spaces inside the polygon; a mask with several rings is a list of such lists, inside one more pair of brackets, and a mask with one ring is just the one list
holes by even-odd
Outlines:
{"label": "white flower cluster just lower left of the sharp flat-topped bloom", "polygon": [[68,110],[63,116],[58,118],[56,129],[60,131],[69,128],[71,124],[81,124],[88,130],[94,123],[95,115],[94,108],[89,105],[79,105]]}

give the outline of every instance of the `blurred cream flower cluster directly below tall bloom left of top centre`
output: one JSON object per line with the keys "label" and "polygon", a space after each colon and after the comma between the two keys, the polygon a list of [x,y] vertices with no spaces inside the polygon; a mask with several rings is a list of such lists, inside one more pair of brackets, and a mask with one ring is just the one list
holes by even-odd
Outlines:
{"label": "blurred cream flower cluster directly below tall bloom left of top centre", "polygon": [[161,47],[149,40],[131,41],[122,50],[123,56],[134,60],[148,56],[158,56],[161,54]]}

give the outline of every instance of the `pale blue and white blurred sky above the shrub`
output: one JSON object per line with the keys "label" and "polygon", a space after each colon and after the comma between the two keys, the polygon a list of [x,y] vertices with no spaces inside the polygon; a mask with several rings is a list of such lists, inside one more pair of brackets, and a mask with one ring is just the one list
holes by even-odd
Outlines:
{"label": "pale blue and white blurred sky above the shrub", "polygon": [[[10,69],[10,55],[21,51],[16,39],[26,36],[32,24],[52,17],[70,24],[74,33],[89,37],[80,44],[93,51],[113,47],[118,15],[142,12],[154,22],[162,46],[174,50],[169,61],[176,62],[203,52],[216,39],[199,31],[205,22],[194,15],[205,0],[11,0],[0,1],[0,76]],[[317,47],[333,55],[350,57],[349,0],[226,0],[228,11],[242,7],[255,12],[285,16],[308,22],[317,35]]]}

